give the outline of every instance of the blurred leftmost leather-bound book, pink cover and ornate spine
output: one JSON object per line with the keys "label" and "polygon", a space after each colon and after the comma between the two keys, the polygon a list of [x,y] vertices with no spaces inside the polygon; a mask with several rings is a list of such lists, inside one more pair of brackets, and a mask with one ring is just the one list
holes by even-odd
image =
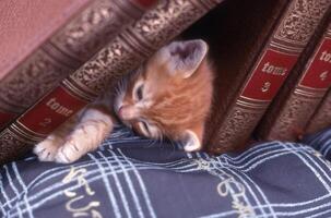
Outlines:
{"label": "blurred leftmost leather-bound book, pink cover and ornate spine", "polygon": [[[16,26],[15,29],[10,31],[12,27],[0,21],[1,31],[7,33],[1,36],[0,32],[0,44],[11,45],[4,51],[1,50],[1,53],[9,56],[7,62],[12,66],[15,65],[4,69],[8,72],[5,75],[0,72],[2,75],[0,78],[0,130],[55,88],[69,73],[92,58],[120,29],[141,17],[156,0],[37,0],[31,1],[33,3],[20,0],[10,2],[7,5],[1,1],[1,9],[12,11],[12,8],[20,8],[20,11],[4,13],[4,15],[0,13],[0,19],[4,16],[5,20],[11,21],[11,26]],[[83,10],[76,12],[76,8],[84,2]],[[28,5],[26,10],[21,9],[25,4]],[[73,12],[76,12],[75,15],[68,21],[67,16]],[[15,14],[21,15],[16,17]],[[67,22],[62,16],[67,19]],[[57,25],[55,26],[54,23]],[[58,23],[61,24],[61,28],[55,31],[55,27],[60,27]],[[44,32],[47,32],[46,36]],[[15,37],[16,35],[20,37]],[[1,40],[2,38],[5,40]],[[16,57],[12,55],[14,48],[16,56],[21,57],[21,53],[24,53],[24,60],[20,58],[20,61],[15,61]],[[22,51],[24,49],[33,50],[33,52],[27,56]],[[3,66],[0,65],[0,71],[2,69]]]}

